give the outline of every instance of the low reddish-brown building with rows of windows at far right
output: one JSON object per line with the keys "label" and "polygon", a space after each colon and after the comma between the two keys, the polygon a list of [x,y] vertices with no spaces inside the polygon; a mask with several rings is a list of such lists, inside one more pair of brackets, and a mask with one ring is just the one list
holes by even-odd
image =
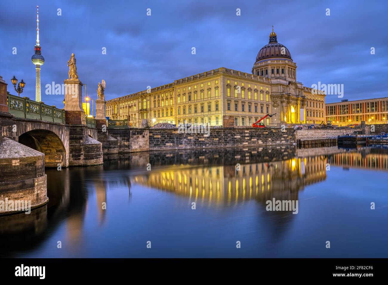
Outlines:
{"label": "low reddish-brown building with rows of windows at far right", "polygon": [[326,119],[340,126],[361,121],[385,124],[388,120],[388,97],[327,103]]}

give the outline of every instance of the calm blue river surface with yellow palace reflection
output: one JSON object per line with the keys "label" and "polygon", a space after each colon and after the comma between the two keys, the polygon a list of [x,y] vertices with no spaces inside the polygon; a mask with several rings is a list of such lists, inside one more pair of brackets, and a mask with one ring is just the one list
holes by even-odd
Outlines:
{"label": "calm blue river surface with yellow palace reflection", "polygon": [[[0,256],[388,257],[384,147],[118,154],[46,174],[47,206],[0,217]],[[266,211],[272,198],[298,214]]]}

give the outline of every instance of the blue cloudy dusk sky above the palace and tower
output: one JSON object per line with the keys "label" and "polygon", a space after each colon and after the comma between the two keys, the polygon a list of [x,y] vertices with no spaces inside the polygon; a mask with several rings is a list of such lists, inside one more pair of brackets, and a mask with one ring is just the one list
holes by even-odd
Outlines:
{"label": "blue cloudy dusk sky above the palace and tower", "polygon": [[[251,72],[274,25],[279,43],[297,63],[305,86],[344,84],[343,99],[386,97],[387,1],[15,1],[0,0],[0,75],[23,78],[23,96],[35,98],[36,5],[42,55],[42,101],[63,107],[63,95],[45,85],[63,83],[76,55],[80,80],[96,98],[105,79],[106,99],[227,67]],[[62,16],[57,16],[57,9]],[[146,15],[147,8],[151,16]],[[241,16],[236,16],[236,9]],[[326,9],[331,16],[326,16]],[[12,54],[12,48],[17,54]],[[107,54],[102,54],[106,47]],[[196,47],[196,54],[191,48]],[[376,54],[371,55],[371,47]],[[327,96],[326,102],[338,102]]]}

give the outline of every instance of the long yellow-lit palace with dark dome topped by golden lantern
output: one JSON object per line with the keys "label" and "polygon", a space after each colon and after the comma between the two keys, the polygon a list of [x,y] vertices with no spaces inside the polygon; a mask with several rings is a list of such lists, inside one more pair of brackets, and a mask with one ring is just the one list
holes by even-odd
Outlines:
{"label": "long yellow-lit palace with dark dome topped by golden lantern", "polygon": [[110,119],[140,119],[222,125],[232,115],[237,126],[249,126],[267,113],[265,124],[320,123],[325,120],[325,94],[296,81],[296,63],[289,50],[277,42],[272,29],[269,42],[258,52],[251,73],[225,67],[195,74],[107,101]]}

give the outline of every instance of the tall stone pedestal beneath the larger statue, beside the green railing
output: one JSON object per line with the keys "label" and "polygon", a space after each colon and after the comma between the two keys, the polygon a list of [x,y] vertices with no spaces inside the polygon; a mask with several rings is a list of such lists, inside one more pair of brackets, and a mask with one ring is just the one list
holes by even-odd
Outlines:
{"label": "tall stone pedestal beneath the larger statue, beside the green railing", "polygon": [[86,124],[82,109],[82,82],[79,79],[65,79],[65,120],[66,124]]}

